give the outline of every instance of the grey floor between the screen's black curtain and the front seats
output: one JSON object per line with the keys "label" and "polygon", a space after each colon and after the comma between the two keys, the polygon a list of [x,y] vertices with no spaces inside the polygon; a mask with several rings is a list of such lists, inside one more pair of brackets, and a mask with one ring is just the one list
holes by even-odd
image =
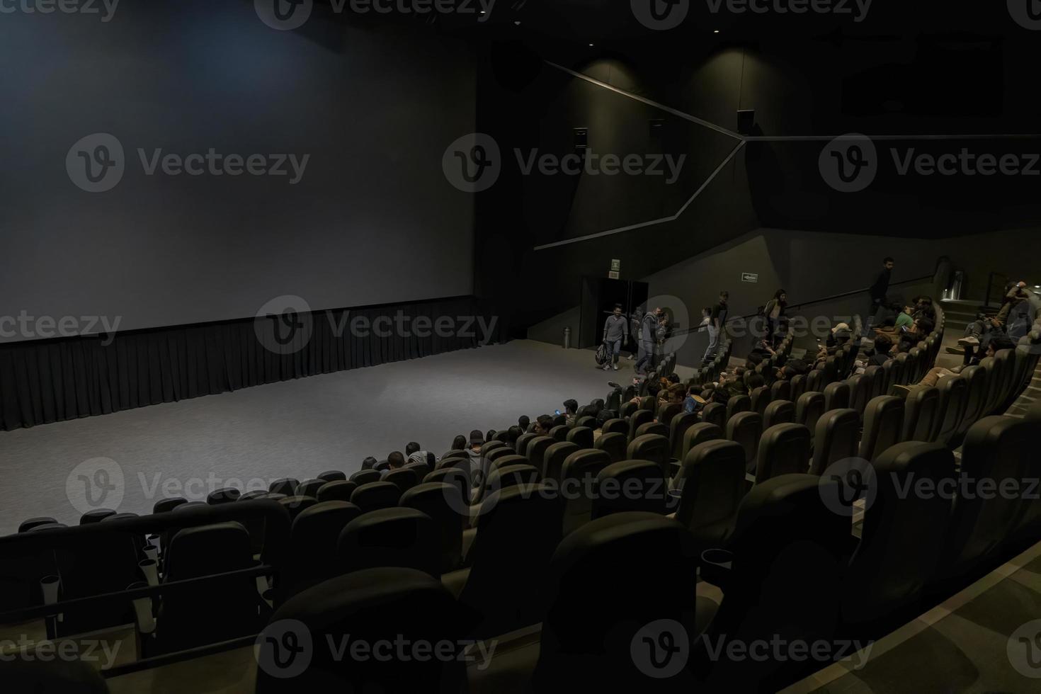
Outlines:
{"label": "grey floor between the screen's black curtain and the front seats", "polygon": [[[631,378],[632,364],[623,359],[608,374],[590,351],[516,340],[0,432],[0,534],[33,516],[78,522],[79,477],[93,482],[101,468],[116,472],[108,487],[122,472],[122,489],[108,497],[122,491],[117,510],[149,513],[163,496],[204,498],[227,483],[254,489],[280,477],[351,473],[366,456],[385,458],[409,441],[440,456],[457,434],[552,414],[568,397],[604,397],[608,381]],[[83,465],[94,459],[118,467]]]}

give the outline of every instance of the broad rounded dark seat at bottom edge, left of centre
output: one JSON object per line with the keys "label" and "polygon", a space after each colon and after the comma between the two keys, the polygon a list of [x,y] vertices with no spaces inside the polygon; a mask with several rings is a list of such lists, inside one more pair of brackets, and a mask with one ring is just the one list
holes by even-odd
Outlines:
{"label": "broad rounded dark seat at bottom edge, left of centre", "polygon": [[[306,635],[294,631],[297,624],[306,625]],[[436,579],[408,568],[355,571],[295,595],[272,615],[257,639],[255,691],[422,692],[431,683],[437,683],[440,691],[463,691],[466,663],[461,659],[354,659],[345,658],[337,648],[353,643],[436,647],[458,643],[464,636],[458,605]],[[305,643],[313,644],[306,662],[286,659],[286,646]],[[337,647],[329,647],[330,643]]]}

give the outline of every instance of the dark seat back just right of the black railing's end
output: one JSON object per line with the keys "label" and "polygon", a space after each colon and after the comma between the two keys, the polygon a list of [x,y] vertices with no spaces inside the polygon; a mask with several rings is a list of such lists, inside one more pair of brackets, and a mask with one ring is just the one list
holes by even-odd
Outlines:
{"label": "dark seat back just right of the black railing's end", "polygon": [[338,575],[336,542],[347,523],[360,515],[361,509],[348,502],[323,502],[300,512],[279,576],[280,599]]}

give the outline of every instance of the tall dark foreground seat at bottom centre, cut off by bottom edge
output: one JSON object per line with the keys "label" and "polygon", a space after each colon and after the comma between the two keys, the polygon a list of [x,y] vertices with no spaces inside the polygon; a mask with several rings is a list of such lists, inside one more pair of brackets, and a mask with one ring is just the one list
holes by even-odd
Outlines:
{"label": "tall dark foreground seat at bottom centre, cut off by bottom edge", "polygon": [[[696,564],[689,534],[676,521],[649,513],[612,514],[565,538],[549,569],[553,598],[531,690],[663,691],[648,684],[662,680],[644,674],[633,644],[640,644],[644,625],[662,619],[696,633]],[[612,580],[605,581],[606,575]],[[667,585],[663,576],[669,576]],[[672,586],[678,588],[669,590]],[[686,670],[667,682],[668,691],[696,690]]]}

